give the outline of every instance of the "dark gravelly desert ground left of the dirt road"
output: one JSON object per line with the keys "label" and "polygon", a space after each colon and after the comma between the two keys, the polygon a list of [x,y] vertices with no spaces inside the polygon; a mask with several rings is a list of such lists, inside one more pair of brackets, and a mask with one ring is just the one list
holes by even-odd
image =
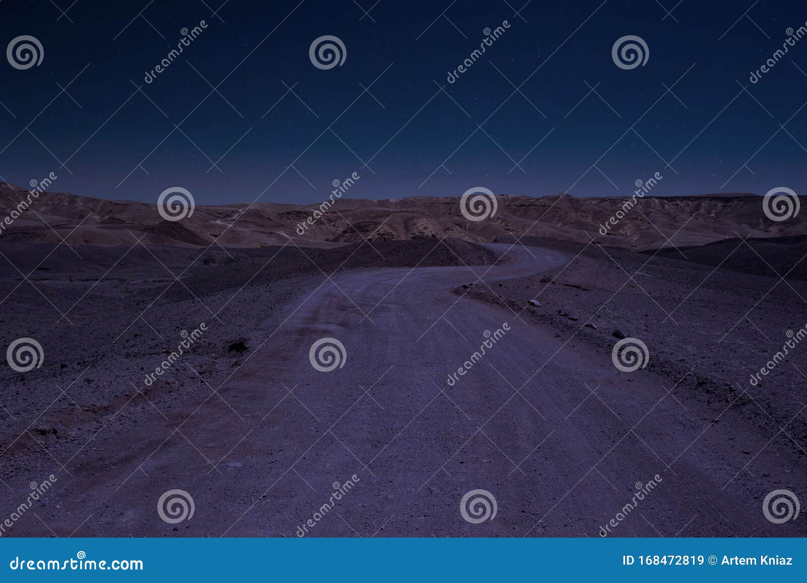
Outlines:
{"label": "dark gravelly desert ground left of the dirt road", "polygon": [[[33,337],[45,354],[41,368],[28,373],[0,368],[6,415],[0,477],[9,482],[24,474],[19,483],[27,483],[36,475],[31,456],[45,456],[45,469],[56,462],[44,448],[67,448],[61,459],[68,459],[102,427],[115,431],[115,423],[142,423],[137,414],[153,410],[138,390],[148,396],[161,389],[171,405],[189,398],[185,385],[194,390],[220,385],[249,354],[249,348],[231,350],[233,344],[245,341],[258,321],[281,324],[314,289],[332,285],[328,277],[337,273],[390,264],[458,264],[457,253],[475,263],[495,259],[475,245],[447,243],[356,244],[331,252],[81,248],[81,257],[64,246],[0,247],[5,261],[0,273],[6,276],[0,278],[0,342],[8,346]],[[173,377],[145,386],[144,371],[177,347],[183,330],[203,322],[215,334],[199,339]],[[124,403],[130,406],[121,410]]]}

